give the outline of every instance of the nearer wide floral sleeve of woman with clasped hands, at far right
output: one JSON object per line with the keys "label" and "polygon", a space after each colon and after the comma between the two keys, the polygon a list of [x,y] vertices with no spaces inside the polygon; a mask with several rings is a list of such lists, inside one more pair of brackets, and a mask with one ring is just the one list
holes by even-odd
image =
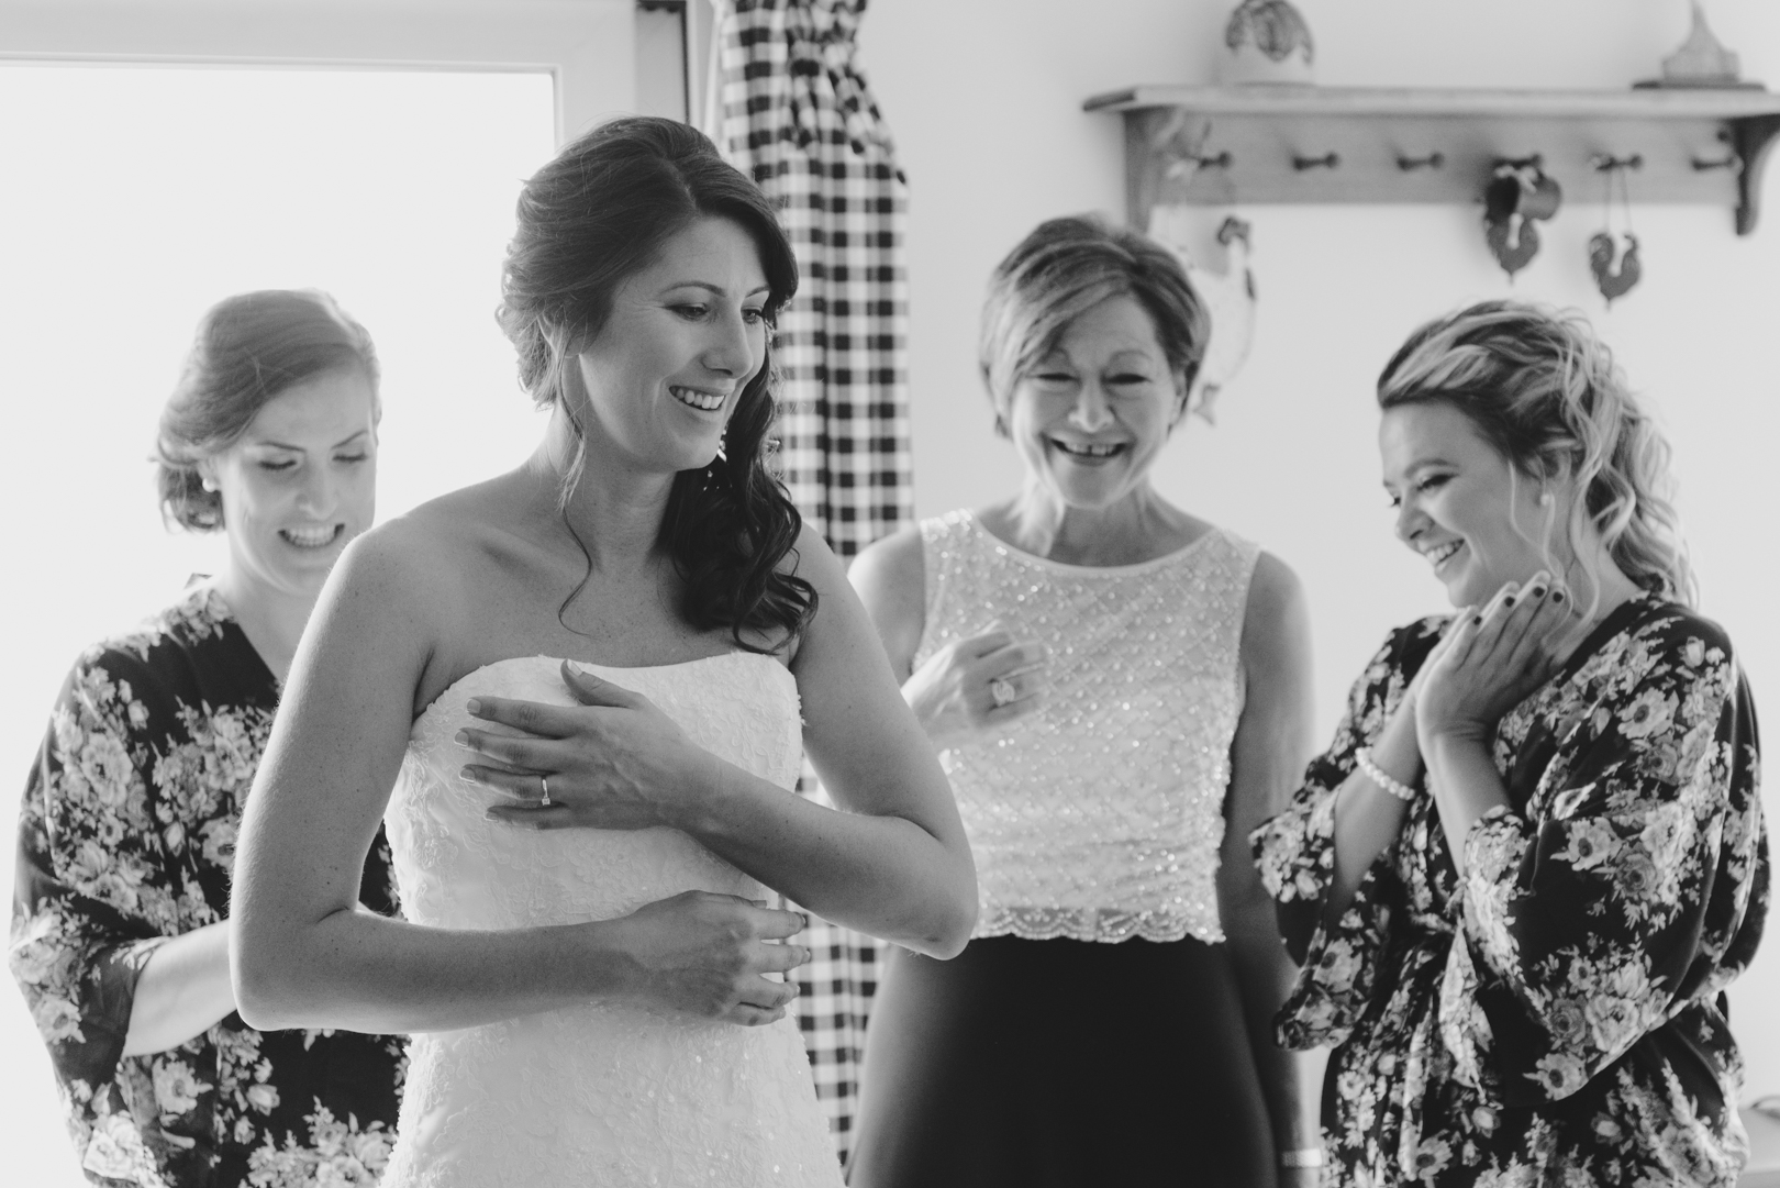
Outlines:
{"label": "nearer wide floral sleeve of woman with clasped hands, at far right", "polygon": [[1527,791],[1465,837],[1440,990],[1458,1074],[1509,1104],[1568,1097],[1728,985],[1768,873],[1755,707],[1714,625],[1622,634],[1534,702],[1497,734]]}

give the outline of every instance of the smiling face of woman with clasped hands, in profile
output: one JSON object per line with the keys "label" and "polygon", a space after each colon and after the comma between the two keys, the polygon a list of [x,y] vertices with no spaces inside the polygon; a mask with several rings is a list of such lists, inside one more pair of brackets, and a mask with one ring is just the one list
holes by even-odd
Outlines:
{"label": "smiling face of woman with clasped hands, in profile", "polygon": [[1506,582],[1563,572],[1545,541],[1563,508],[1513,468],[1465,413],[1445,401],[1385,410],[1378,426],[1397,538],[1428,557],[1452,606],[1483,606]]}

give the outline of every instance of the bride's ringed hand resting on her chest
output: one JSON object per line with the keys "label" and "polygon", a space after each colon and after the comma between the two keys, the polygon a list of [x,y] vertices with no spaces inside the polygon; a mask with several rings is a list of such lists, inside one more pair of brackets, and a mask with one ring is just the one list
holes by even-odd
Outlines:
{"label": "bride's ringed hand resting on her chest", "polygon": [[465,728],[463,778],[504,796],[488,816],[530,828],[680,826],[721,787],[724,764],[650,698],[562,661],[578,705],[500,696],[468,704],[491,728]]}

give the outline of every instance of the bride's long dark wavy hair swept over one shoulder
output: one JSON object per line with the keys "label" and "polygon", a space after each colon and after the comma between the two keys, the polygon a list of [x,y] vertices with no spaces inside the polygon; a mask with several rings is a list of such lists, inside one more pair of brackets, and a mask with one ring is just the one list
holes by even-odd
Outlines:
{"label": "bride's long dark wavy hair swept over one shoulder", "polygon": [[[803,517],[767,463],[776,411],[771,326],[797,290],[797,260],[765,194],[696,128],[653,116],[603,123],[520,192],[497,319],[518,349],[520,383],[539,406],[561,403],[580,436],[568,369],[598,338],[618,287],[705,217],[735,221],[760,251],[767,347],[737,397],[723,449],[707,467],[675,476],[659,543],[685,582],[680,614],[700,631],[728,627],[737,647],[764,652],[742,638],[744,629],[780,634],[783,647],[810,623],[817,602],[810,582],[780,570]],[[562,509],[584,465],[582,438],[562,476]],[[577,593],[580,586],[559,618]]]}

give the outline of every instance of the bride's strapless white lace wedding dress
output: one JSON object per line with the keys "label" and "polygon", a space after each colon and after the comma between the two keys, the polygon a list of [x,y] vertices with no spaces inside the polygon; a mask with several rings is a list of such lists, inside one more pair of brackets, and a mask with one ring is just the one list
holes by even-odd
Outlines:
{"label": "bride's strapless white lace wedding dress", "polygon": [[[797,686],[732,652],[662,668],[595,668],[655,702],[700,746],[790,789]],[[678,830],[530,830],[484,816],[452,736],[472,696],[571,705],[559,661],[479,668],[415,721],[384,818],[402,914],[436,928],[530,928],[627,915],[682,891],[764,889]],[[473,723],[486,725],[486,723]],[[840,1184],[797,1022],[705,1022],[589,1001],[417,1035],[383,1188],[523,1184]]]}

